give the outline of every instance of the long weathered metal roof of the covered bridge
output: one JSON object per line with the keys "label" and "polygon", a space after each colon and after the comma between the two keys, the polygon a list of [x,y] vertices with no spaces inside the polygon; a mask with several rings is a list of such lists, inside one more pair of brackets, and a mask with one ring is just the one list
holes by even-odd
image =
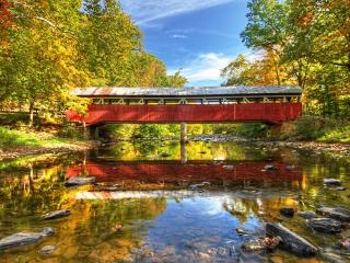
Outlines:
{"label": "long weathered metal roof of the covered bridge", "polygon": [[74,95],[88,98],[135,96],[135,98],[172,98],[172,96],[244,96],[244,95],[301,95],[298,85],[265,87],[208,87],[208,88],[86,88],[75,89]]}

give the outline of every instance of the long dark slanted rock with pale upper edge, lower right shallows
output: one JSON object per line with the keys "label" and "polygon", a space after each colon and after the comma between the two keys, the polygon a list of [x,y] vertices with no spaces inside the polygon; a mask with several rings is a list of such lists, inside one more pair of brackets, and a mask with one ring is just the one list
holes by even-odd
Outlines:
{"label": "long dark slanted rock with pale upper edge, lower right shallows", "polygon": [[281,224],[266,224],[266,233],[271,237],[281,237],[280,247],[299,255],[314,255],[318,249],[306,239],[294,233]]}

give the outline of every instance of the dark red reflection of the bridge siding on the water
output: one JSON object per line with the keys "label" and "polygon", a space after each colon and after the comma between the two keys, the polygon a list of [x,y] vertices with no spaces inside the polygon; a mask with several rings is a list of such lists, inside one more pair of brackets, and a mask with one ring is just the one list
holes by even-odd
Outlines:
{"label": "dark red reflection of the bridge siding on the water", "polygon": [[96,176],[97,182],[138,181],[143,183],[210,182],[301,182],[302,172],[282,162],[272,162],[276,170],[266,171],[264,161],[93,161],[67,168],[67,178]]}

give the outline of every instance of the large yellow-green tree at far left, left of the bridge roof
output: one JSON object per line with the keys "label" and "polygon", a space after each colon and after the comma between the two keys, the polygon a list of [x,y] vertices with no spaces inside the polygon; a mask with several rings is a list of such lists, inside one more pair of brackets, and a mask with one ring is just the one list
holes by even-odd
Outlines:
{"label": "large yellow-green tree at far left, left of the bridge roof", "polygon": [[75,0],[26,0],[12,8],[9,50],[4,53],[1,46],[1,60],[7,59],[1,68],[8,78],[0,83],[5,87],[4,95],[28,106],[30,125],[35,108],[63,111],[71,89],[84,83],[84,73],[75,67],[77,38],[66,31],[74,24],[79,4]]}

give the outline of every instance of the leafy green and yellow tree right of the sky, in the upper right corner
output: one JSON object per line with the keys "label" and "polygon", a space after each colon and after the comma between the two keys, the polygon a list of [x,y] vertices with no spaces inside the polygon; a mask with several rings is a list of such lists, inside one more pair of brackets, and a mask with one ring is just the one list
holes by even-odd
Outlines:
{"label": "leafy green and yellow tree right of the sky, in the upper right corner", "polygon": [[349,7],[347,0],[252,0],[241,36],[249,48],[272,52],[275,69],[284,68],[289,80],[298,81],[314,112],[345,115],[350,93]]}

